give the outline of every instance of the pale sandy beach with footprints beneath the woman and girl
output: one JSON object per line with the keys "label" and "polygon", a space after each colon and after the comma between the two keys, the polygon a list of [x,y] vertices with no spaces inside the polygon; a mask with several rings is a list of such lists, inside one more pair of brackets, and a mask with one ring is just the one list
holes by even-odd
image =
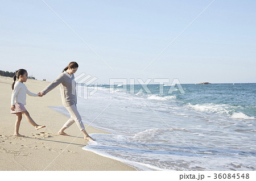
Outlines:
{"label": "pale sandy beach with footprints beneath the woman and girl", "polygon": [[[70,137],[57,134],[68,120],[67,116],[49,108],[62,106],[57,88],[42,98],[27,95],[28,112],[37,124],[46,128],[36,131],[23,116],[19,133],[25,137],[13,136],[16,115],[10,113],[11,83],[12,78],[0,77],[0,170],[135,170],[114,159],[82,150],[88,141],[76,124],[66,131]],[[48,83],[28,79],[25,84],[31,92],[39,92]],[[106,133],[93,127],[86,131]]]}

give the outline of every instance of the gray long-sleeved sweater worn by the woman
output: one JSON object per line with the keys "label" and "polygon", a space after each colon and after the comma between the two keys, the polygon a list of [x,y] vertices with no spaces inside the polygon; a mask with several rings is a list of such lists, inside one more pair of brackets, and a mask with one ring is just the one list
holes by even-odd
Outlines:
{"label": "gray long-sleeved sweater worn by the woman", "polygon": [[76,81],[75,76],[69,75],[66,71],[61,73],[59,77],[55,79],[55,81],[51,82],[46,89],[44,89],[44,94],[47,94],[49,91],[53,90],[55,87],[60,85],[60,94],[61,94],[61,101],[64,107],[70,107],[73,104],[76,105],[77,98],[76,98]]}

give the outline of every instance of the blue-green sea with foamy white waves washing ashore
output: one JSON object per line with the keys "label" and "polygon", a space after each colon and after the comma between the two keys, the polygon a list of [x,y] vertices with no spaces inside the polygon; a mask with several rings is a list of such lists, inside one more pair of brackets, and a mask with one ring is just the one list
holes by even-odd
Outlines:
{"label": "blue-green sea with foamy white waves washing ashore", "polygon": [[78,86],[84,123],[112,133],[83,149],[137,170],[255,170],[256,83],[181,86],[101,85],[86,99]]}

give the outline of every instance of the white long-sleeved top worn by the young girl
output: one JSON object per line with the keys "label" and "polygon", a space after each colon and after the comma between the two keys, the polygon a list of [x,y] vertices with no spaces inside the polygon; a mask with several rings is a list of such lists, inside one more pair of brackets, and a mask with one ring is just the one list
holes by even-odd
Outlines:
{"label": "white long-sleeved top worn by the young girl", "polygon": [[11,94],[11,106],[15,105],[15,103],[26,105],[26,95],[38,96],[38,94],[30,92],[24,83],[19,81],[15,82],[13,94]]}

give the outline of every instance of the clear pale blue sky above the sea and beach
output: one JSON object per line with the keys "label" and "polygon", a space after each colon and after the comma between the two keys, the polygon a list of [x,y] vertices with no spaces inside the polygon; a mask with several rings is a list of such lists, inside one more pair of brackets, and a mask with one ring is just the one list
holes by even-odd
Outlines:
{"label": "clear pale blue sky above the sea and beach", "polygon": [[[256,1],[1,1],[0,70],[53,81],[70,62],[109,78],[256,82]],[[174,39],[176,41],[164,50]],[[152,60],[148,68],[143,71]]]}

